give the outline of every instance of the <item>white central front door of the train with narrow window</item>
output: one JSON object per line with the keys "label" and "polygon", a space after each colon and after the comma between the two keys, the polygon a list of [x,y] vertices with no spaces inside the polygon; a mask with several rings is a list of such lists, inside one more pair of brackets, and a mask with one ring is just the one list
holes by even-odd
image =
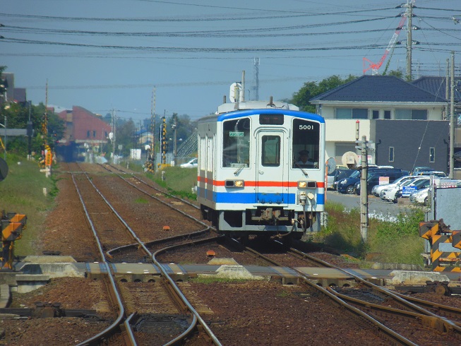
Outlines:
{"label": "white central front door of the train with narrow window", "polygon": [[257,134],[256,196],[258,203],[287,203],[287,153],[285,131]]}

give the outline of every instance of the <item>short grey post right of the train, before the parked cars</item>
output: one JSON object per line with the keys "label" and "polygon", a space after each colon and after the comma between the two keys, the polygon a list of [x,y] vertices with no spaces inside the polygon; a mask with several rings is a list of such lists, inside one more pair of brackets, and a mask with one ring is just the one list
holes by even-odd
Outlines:
{"label": "short grey post right of the train, before the parked cars", "polygon": [[371,141],[366,141],[366,136],[361,136],[359,141],[359,121],[356,123],[355,129],[355,146],[356,149],[361,150],[361,174],[360,174],[360,234],[361,240],[366,243],[368,237],[369,227],[369,208],[368,208],[368,148],[371,146]]}

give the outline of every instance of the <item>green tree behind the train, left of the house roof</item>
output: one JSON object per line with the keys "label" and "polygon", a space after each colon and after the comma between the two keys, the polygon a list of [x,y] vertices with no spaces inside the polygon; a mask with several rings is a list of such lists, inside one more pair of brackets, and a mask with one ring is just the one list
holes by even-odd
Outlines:
{"label": "green tree behind the train, left of the house roof", "polygon": [[349,75],[347,78],[343,79],[335,75],[325,78],[318,83],[306,82],[297,93],[293,94],[292,100],[289,100],[289,102],[297,105],[301,111],[315,113],[316,107],[312,105],[309,100],[342,84],[349,83],[356,78],[356,76]]}

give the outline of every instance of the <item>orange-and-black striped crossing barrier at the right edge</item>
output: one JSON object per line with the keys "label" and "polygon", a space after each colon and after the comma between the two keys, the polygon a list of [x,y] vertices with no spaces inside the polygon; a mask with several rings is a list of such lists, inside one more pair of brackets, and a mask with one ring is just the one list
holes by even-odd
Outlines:
{"label": "orange-and-black striped crossing barrier at the right edge", "polygon": [[419,237],[431,246],[430,261],[436,272],[461,273],[461,231],[452,231],[443,219],[419,222]]}

